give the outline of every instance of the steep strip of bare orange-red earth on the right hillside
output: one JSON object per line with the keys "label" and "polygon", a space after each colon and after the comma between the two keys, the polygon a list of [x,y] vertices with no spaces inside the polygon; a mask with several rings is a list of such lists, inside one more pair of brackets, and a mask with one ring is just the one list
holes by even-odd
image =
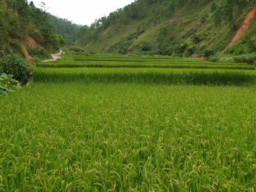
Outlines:
{"label": "steep strip of bare orange-red earth on the right hillside", "polygon": [[[247,31],[247,29],[248,29],[249,26],[250,26],[250,21],[253,19],[255,13],[256,13],[256,8],[255,8],[255,7],[251,8],[251,9],[249,10],[249,12],[248,12],[247,15],[246,15],[246,18],[245,18],[245,21],[244,21],[242,27],[236,32],[236,35],[233,37],[233,39],[232,39],[231,43],[229,43],[229,45],[234,44],[235,41],[236,41],[237,39],[239,39],[239,38]],[[229,46],[229,45],[228,45],[228,46]],[[228,46],[227,46],[227,47],[228,47]],[[226,47],[221,53],[224,53],[225,50],[227,49],[227,47]]]}

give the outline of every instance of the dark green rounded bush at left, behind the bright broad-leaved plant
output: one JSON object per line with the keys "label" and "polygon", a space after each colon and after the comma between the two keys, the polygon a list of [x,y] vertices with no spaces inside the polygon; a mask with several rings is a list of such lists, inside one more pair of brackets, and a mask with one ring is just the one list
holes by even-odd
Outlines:
{"label": "dark green rounded bush at left, behind the bright broad-leaved plant", "polygon": [[19,55],[5,55],[0,59],[0,70],[6,74],[12,74],[13,78],[22,85],[29,82],[32,69],[29,68],[25,59]]}

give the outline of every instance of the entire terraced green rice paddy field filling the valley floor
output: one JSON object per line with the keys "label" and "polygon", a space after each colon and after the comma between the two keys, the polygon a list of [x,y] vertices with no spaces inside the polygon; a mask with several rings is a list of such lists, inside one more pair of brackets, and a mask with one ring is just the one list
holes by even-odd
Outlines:
{"label": "entire terraced green rice paddy field filling the valley floor", "polygon": [[254,66],[73,60],[0,97],[0,191],[256,190]]}

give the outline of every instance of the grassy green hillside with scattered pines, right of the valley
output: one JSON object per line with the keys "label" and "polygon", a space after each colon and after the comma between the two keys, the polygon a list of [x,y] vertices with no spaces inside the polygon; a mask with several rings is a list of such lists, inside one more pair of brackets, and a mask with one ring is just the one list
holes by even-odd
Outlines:
{"label": "grassy green hillside with scattered pines, right of the valley", "polygon": [[[111,53],[191,56],[223,51],[255,0],[137,0],[81,28],[76,46]],[[226,53],[256,51],[256,20]]]}

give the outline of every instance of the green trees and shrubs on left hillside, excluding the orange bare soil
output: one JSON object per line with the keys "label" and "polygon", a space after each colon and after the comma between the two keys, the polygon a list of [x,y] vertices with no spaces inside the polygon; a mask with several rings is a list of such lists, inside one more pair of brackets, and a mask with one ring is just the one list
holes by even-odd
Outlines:
{"label": "green trees and shrubs on left hillside, excluding the orange bare soil", "polygon": [[[6,8],[7,7],[7,8]],[[50,21],[45,4],[36,8],[27,0],[7,0],[0,4],[0,49],[8,53],[17,53],[25,57],[25,39],[30,36],[49,52],[59,49],[64,39],[57,34]],[[27,44],[29,46],[29,43]],[[27,47],[25,45],[25,47]]]}

